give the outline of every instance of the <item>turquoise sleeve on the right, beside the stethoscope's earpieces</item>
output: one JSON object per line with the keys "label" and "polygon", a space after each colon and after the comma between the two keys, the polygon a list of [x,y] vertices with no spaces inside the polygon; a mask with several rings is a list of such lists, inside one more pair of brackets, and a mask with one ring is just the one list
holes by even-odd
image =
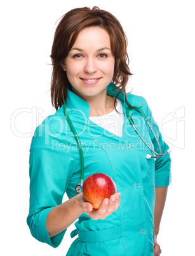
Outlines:
{"label": "turquoise sleeve on the right, beside the stethoscope's earpieces", "polygon": [[[142,97],[144,99],[144,97]],[[152,125],[152,129],[156,134],[156,138],[159,141],[159,145],[161,146],[161,152],[165,153],[168,150],[168,145],[163,141],[161,132],[159,131],[158,124],[154,121],[152,117],[152,111],[150,110],[147,102],[144,99],[144,113],[147,115],[149,122]],[[149,128],[149,134],[151,137],[152,144],[154,145],[154,150],[159,153],[159,147],[156,139],[154,138],[154,134]],[[167,187],[171,183],[171,158],[170,154],[163,155],[159,157],[155,161],[155,187]]]}

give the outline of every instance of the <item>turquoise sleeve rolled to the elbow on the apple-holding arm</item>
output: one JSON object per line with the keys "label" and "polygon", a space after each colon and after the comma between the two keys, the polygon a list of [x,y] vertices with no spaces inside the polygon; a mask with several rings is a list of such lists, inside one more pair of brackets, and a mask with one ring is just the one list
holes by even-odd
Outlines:
{"label": "turquoise sleeve rolled to the elbow on the apple-holding arm", "polygon": [[71,150],[66,153],[67,144],[62,139],[65,135],[62,127],[58,129],[60,122],[51,118],[48,123],[37,127],[30,145],[30,206],[27,224],[34,238],[56,248],[66,230],[50,239],[46,218],[51,209],[62,203],[74,171],[74,159]]}

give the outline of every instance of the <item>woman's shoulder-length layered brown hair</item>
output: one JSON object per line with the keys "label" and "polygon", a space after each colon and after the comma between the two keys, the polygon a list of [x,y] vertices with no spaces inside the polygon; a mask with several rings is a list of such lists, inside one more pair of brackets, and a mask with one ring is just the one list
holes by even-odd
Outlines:
{"label": "woman's shoulder-length layered brown hair", "polygon": [[[56,110],[64,104],[67,96],[67,86],[70,84],[66,72],[61,67],[62,61],[67,57],[79,32],[85,27],[91,26],[102,27],[110,35],[111,50],[115,57],[112,83],[121,88],[116,98],[123,91],[126,101],[125,87],[129,76],[133,74],[131,74],[128,68],[129,59],[128,53],[126,52],[127,38],[121,24],[111,13],[100,10],[97,6],[94,6],[92,10],[88,7],[76,8],[62,16],[55,31],[53,46],[51,48],[50,57],[53,65],[51,103]],[[114,106],[116,106],[116,99]],[[130,104],[128,106],[132,107]]]}

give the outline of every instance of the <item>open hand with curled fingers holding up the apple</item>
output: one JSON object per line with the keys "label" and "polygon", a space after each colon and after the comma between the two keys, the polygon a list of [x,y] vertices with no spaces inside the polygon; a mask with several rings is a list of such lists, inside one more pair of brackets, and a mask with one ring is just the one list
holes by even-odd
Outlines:
{"label": "open hand with curled fingers holding up the apple", "polygon": [[113,211],[118,210],[121,199],[121,193],[114,193],[109,199],[105,198],[98,210],[93,209],[91,203],[86,202],[83,198],[83,193],[79,197],[79,206],[83,209],[84,213],[89,215],[93,220],[104,220],[107,216],[111,215]]}

